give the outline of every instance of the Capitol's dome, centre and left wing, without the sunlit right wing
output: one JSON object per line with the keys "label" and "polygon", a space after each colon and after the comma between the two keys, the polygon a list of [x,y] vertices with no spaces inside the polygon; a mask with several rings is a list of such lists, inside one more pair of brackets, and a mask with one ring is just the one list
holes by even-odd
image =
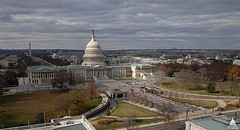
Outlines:
{"label": "Capitol's dome, centre and left wing, without the sunlit right wing", "polygon": [[30,83],[51,83],[58,74],[72,73],[75,79],[115,79],[126,77],[125,66],[106,66],[104,55],[98,42],[95,40],[94,30],[91,41],[87,44],[83,63],[81,65],[68,66],[30,66],[27,69]]}

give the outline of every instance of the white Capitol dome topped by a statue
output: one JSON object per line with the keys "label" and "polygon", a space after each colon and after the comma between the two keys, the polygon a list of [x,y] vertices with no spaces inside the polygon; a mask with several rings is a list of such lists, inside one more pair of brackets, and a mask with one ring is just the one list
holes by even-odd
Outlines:
{"label": "white Capitol dome topped by a statue", "polygon": [[104,55],[98,42],[95,40],[94,30],[91,41],[87,44],[85,54],[83,55],[82,66],[104,66]]}

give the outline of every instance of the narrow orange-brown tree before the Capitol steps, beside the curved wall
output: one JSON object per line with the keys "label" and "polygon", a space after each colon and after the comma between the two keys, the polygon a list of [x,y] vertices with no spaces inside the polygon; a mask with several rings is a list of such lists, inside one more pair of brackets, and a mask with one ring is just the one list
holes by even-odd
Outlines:
{"label": "narrow orange-brown tree before the Capitol steps, beside the curved wall", "polygon": [[87,92],[88,92],[88,95],[90,96],[91,100],[93,98],[98,97],[98,95],[99,95],[99,90],[95,87],[95,81],[93,79],[90,79],[88,81]]}

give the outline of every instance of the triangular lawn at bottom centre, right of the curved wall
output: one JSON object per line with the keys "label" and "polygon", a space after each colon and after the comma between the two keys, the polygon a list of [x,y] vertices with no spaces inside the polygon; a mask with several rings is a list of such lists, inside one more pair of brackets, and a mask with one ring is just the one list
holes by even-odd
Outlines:
{"label": "triangular lawn at bottom centre, right of the curved wall", "polygon": [[123,101],[118,101],[117,108],[111,113],[111,116],[126,117],[130,115],[135,115],[136,117],[150,117],[158,116],[159,114]]}

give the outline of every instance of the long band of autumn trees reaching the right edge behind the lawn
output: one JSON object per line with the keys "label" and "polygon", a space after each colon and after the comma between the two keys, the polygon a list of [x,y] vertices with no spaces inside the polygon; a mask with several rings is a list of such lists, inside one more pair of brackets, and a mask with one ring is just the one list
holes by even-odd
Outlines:
{"label": "long band of autumn trees reaching the right edge behind the lawn", "polygon": [[[240,67],[237,65],[224,62],[189,66],[180,63],[158,64],[157,72],[159,73],[159,71],[168,77],[175,77],[179,87],[183,86],[185,89],[205,89],[207,92],[213,93],[216,92],[215,86],[218,85],[218,92],[221,93],[225,91],[227,83],[231,83],[229,86],[231,94],[237,96],[240,93]],[[207,84],[206,87],[203,87],[199,84],[196,85],[196,82],[207,82]]]}

